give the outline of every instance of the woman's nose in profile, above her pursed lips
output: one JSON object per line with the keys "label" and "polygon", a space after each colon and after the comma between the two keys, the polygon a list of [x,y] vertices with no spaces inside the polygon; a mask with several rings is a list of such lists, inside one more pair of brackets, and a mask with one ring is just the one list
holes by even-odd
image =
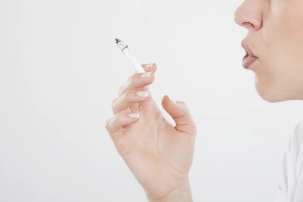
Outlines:
{"label": "woman's nose in profile, above her pursed lips", "polygon": [[262,27],[260,1],[245,0],[234,13],[235,22],[246,29],[259,30]]}

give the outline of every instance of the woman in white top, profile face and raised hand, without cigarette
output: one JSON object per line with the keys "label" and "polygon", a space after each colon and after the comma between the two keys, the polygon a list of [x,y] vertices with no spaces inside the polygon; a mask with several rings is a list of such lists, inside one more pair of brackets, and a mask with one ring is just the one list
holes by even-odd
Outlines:
{"label": "woman in white top, profile face and raised hand, without cigarette", "polygon": [[[242,64],[255,73],[260,96],[268,102],[303,99],[303,1],[246,0],[234,19],[248,31]],[[142,66],[147,73],[132,75],[120,88],[106,128],[149,202],[192,201],[188,172],[195,122],[183,102],[168,96],[162,106],[176,126],[164,119],[147,87],[157,65]],[[298,125],[284,158],[277,201],[303,201],[302,141]]]}

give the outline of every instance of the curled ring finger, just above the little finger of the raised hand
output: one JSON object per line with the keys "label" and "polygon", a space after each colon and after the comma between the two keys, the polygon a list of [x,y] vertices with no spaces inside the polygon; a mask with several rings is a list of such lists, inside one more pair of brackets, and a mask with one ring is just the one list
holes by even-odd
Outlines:
{"label": "curled ring finger, just above the little finger of the raised hand", "polygon": [[[135,105],[136,103],[147,102],[149,98],[149,91],[128,90],[114,99],[112,104],[113,113],[117,114],[122,110],[126,110],[128,107],[137,107],[137,105]],[[132,112],[134,112],[134,110],[134,108],[131,109]]]}

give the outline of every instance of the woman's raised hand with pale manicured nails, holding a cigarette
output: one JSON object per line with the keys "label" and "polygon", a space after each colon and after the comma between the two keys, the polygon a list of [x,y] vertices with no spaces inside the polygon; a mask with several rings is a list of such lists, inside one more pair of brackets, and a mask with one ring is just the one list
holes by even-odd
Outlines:
{"label": "woman's raised hand with pale manicured nails, holding a cigarette", "polygon": [[162,106],[176,126],[163,117],[147,86],[154,82],[157,65],[142,67],[146,73],[133,74],[120,88],[112,104],[115,116],[106,128],[149,201],[168,201],[183,190],[188,197],[195,123],[186,105],[168,96]]}

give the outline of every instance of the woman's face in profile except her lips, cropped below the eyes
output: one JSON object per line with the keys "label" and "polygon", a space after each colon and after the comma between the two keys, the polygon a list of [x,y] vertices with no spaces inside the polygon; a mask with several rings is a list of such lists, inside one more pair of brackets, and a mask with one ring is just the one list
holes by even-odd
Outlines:
{"label": "woman's face in profile except her lips, cropped below the eyes", "polygon": [[247,69],[268,102],[303,99],[303,0],[245,0],[234,15],[257,60]]}

